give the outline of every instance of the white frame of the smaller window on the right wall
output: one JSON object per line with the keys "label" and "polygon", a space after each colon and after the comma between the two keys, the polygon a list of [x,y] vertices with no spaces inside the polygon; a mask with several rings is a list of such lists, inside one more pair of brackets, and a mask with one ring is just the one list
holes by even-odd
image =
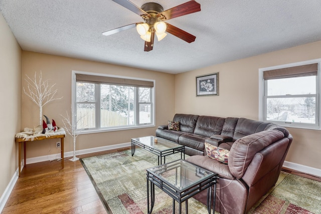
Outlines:
{"label": "white frame of the smaller window on the right wall", "polygon": [[[275,70],[275,69],[283,69],[283,68],[289,68],[289,67],[296,67],[296,66],[302,66],[302,65],[308,65],[308,64],[314,64],[317,63],[317,76],[316,76],[316,94],[315,95],[280,95],[280,96],[269,96],[269,98],[292,98],[292,97],[315,97],[315,114],[317,115],[315,118],[315,124],[308,124],[308,123],[297,123],[297,122],[285,122],[285,121],[270,121],[266,120],[266,114],[267,114],[267,106],[266,106],[266,97],[265,97],[265,91],[267,90],[267,84],[266,81],[263,78],[263,72],[268,70]],[[321,59],[315,59],[315,60],[308,60],[303,62],[297,62],[297,63],[290,63],[285,65],[279,65],[279,66],[272,66],[272,67],[266,67],[266,68],[260,68],[259,69],[259,120],[264,122],[273,122],[276,124],[279,124],[284,127],[291,127],[291,128],[302,128],[302,129],[312,129],[312,130],[321,130],[321,103],[320,103],[320,84],[321,84],[321,77],[320,77],[320,64]],[[285,78],[284,78],[285,79]]]}

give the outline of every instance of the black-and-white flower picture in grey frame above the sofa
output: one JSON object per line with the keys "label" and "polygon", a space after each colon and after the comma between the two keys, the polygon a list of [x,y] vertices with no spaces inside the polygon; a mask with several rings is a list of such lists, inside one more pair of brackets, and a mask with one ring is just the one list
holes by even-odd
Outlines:
{"label": "black-and-white flower picture in grey frame above the sofa", "polygon": [[196,96],[219,95],[219,73],[196,77]]}

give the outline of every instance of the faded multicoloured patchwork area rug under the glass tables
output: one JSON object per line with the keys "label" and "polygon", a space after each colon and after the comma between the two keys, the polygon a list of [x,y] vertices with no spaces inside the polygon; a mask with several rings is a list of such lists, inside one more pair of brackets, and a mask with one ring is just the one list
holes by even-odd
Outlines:
{"label": "faded multicoloured patchwork area rug under the glass tables", "polygon": [[[166,162],[180,159],[166,157]],[[80,159],[108,214],[147,213],[146,168],[157,165],[157,156],[136,149]],[[155,187],[152,213],[172,213],[172,198]],[[206,206],[190,198],[189,213],[208,213]],[[281,172],[276,185],[248,213],[321,213],[321,182]],[[178,208],[178,204],[176,204]],[[185,213],[185,205],[182,205]],[[178,210],[176,210],[178,213]],[[218,213],[218,212],[215,212]]]}

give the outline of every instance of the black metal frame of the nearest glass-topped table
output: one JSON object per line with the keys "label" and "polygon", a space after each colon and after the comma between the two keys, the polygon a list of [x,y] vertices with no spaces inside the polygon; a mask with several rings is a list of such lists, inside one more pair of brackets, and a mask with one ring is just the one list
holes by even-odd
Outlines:
{"label": "black metal frame of the nearest glass-topped table", "polygon": [[[188,162],[188,161],[186,161]],[[147,186],[147,213],[152,212],[155,202],[155,185],[165,191],[173,198],[173,213],[175,213],[175,201],[179,203],[179,213],[182,213],[182,202],[185,201],[185,212],[188,213],[188,199],[207,189],[207,210],[211,214],[211,207],[213,206],[213,214],[215,213],[215,197],[216,197],[216,182],[217,174],[204,178],[196,182],[193,186],[184,189],[178,189],[175,185],[163,180],[161,177],[146,170],[146,186]],[[150,185],[149,185],[150,184]],[[150,189],[150,197],[149,197]],[[150,199],[150,209],[149,209]]]}

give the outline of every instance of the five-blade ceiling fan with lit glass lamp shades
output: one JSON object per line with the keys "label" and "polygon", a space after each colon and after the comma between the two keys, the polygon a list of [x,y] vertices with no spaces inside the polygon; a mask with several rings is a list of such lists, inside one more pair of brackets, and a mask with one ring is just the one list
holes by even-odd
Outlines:
{"label": "five-blade ceiling fan with lit glass lamp shades", "polygon": [[188,43],[195,41],[196,37],[187,33],[165,21],[177,17],[185,16],[201,11],[201,5],[192,0],[182,5],[164,11],[163,7],[157,3],[145,3],[140,8],[129,2],[128,0],[112,0],[113,2],[127,8],[128,10],[139,15],[144,22],[133,23],[110,31],[103,32],[102,35],[109,36],[124,30],[136,27],[140,38],[145,41],[144,51],[151,51],[154,45],[154,36],[158,41],[166,37],[166,33],[170,33]]}

